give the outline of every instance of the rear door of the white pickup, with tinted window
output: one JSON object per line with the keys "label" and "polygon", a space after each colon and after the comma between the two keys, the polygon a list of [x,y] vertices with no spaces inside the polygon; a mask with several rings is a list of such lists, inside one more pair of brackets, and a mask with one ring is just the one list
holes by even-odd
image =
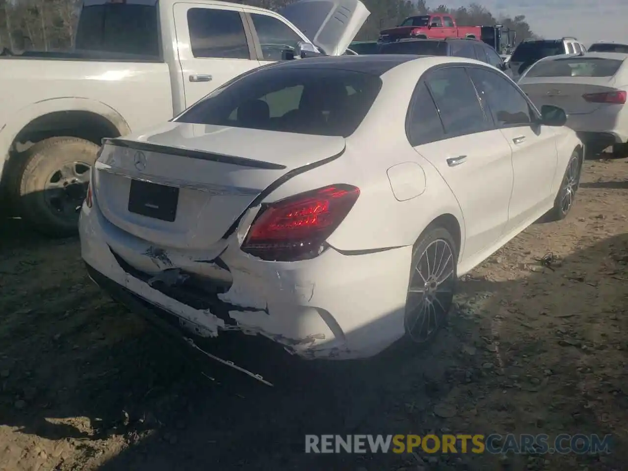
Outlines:
{"label": "rear door of the white pickup, with tinted window", "polygon": [[173,13],[186,107],[259,67],[244,10],[237,4],[175,3]]}

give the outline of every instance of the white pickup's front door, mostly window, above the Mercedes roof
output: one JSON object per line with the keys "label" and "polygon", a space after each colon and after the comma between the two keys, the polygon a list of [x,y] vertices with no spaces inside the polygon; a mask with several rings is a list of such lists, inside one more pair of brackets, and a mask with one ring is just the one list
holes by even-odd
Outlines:
{"label": "white pickup's front door, mostly window, above the Mercedes roof", "polygon": [[286,60],[286,51],[294,51],[300,42],[309,42],[305,35],[271,12],[247,11],[259,63]]}

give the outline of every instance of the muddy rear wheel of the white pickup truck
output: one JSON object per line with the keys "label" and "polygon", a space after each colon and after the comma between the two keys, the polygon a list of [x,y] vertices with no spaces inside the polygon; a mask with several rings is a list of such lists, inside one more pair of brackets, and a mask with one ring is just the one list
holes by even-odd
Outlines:
{"label": "muddy rear wheel of the white pickup truck", "polygon": [[49,237],[76,234],[98,146],[79,138],[50,138],[26,150],[13,191],[19,213]]}

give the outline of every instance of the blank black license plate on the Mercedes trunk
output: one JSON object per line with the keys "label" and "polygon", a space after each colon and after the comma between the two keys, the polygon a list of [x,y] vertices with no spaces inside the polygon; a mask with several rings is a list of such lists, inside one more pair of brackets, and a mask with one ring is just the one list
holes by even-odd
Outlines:
{"label": "blank black license plate on the Mercedes trunk", "polygon": [[129,212],[174,222],[179,202],[179,188],[148,181],[131,180]]}

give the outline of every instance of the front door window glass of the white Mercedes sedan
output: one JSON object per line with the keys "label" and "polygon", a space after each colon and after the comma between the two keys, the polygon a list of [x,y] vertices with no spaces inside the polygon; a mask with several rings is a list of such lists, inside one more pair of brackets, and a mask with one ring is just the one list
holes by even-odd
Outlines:
{"label": "front door window glass of the white Mercedes sedan", "polygon": [[531,124],[533,116],[531,116],[528,100],[507,78],[482,68],[469,68],[468,72],[480,95],[480,100],[485,105],[484,109],[490,109],[497,126]]}

